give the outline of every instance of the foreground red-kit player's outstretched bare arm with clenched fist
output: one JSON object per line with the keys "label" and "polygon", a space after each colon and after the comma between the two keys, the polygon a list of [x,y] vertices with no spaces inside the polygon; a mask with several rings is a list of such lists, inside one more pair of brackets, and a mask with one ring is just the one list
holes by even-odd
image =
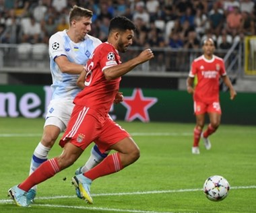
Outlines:
{"label": "foreground red-kit player's outstretched bare arm with clenched fist", "polygon": [[118,77],[121,77],[126,73],[128,73],[129,71],[131,71],[137,65],[140,65],[143,62],[146,62],[147,60],[150,60],[152,58],[154,58],[154,54],[152,50],[150,49],[143,50],[137,57],[131,60],[128,60],[123,64],[115,65],[115,66],[104,69],[103,71],[104,76],[106,80],[117,79]]}

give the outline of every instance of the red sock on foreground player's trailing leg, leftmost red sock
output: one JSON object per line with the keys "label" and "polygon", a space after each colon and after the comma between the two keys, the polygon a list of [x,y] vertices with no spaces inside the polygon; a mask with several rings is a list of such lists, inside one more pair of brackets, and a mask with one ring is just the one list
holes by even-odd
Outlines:
{"label": "red sock on foreground player's trailing leg, leftmost red sock", "polygon": [[59,171],[57,159],[49,159],[42,163],[25,181],[20,183],[19,188],[28,191],[34,185],[53,177]]}

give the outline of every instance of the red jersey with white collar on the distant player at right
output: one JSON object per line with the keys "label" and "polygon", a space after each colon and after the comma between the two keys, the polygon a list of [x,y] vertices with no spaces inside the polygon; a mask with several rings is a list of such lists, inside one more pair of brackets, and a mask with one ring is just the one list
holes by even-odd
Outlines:
{"label": "red jersey with white collar on the distant player at right", "polygon": [[205,103],[219,101],[219,79],[220,76],[226,75],[224,60],[215,55],[211,60],[207,60],[203,55],[195,58],[189,77],[195,75],[197,75],[197,85],[194,101]]}

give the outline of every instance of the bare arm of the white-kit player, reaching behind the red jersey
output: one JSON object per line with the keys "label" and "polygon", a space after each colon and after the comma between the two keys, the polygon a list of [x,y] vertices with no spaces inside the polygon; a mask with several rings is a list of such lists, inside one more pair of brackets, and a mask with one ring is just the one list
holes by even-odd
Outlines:
{"label": "bare arm of the white-kit player, reaching behind the red jersey", "polygon": [[84,71],[84,65],[78,65],[74,62],[70,62],[67,59],[67,56],[59,56],[55,58],[55,62],[57,63],[59,69],[62,73],[67,74],[80,74]]}

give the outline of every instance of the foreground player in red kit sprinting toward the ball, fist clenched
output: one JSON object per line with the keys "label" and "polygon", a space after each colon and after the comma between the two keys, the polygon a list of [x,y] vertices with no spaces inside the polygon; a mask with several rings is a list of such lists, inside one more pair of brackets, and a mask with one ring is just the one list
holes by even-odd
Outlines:
{"label": "foreground player in red kit sprinting toward the ball, fist clenched", "polygon": [[152,50],[143,50],[139,56],[121,63],[119,52],[126,52],[132,44],[135,26],[126,17],[114,17],[108,28],[107,42],[100,44],[90,56],[86,71],[79,77],[86,87],[74,99],[75,107],[60,145],[59,157],[44,161],[20,185],[9,189],[11,198],[18,206],[29,206],[27,191],[33,186],[72,165],[93,141],[100,151],[115,150],[93,169],[75,175],[72,181],[81,198],[92,204],[90,185],[98,177],[120,171],[139,159],[139,147],[108,112],[119,91],[121,76],[137,65],[154,58]]}

